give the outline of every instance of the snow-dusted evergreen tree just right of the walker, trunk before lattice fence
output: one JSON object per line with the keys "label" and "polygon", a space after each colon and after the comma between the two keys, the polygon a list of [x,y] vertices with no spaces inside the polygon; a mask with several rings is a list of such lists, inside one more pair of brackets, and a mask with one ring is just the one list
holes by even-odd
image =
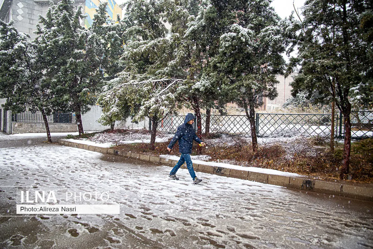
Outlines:
{"label": "snow-dusted evergreen tree just right of the walker, trunk before lattice fence", "polygon": [[281,20],[270,1],[232,1],[228,6],[222,16],[228,29],[220,37],[213,63],[223,79],[223,95],[245,110],[257,152],[255,108],[264,97],[274,99],[278,94],[276,75],[285,68],[282,53],[292,36],[292,20]]}

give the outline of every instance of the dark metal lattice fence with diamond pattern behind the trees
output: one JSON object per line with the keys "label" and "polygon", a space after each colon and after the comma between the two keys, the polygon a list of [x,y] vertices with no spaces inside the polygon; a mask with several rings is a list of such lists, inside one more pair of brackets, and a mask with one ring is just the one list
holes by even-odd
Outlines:
{"label": "dark metal lattice fence with diamond pattern behind the trees", "polygon": [[[184,123],[183,115],[164,116],[159,131],[175,133]],[[330,136],[331,114],[309,113],[256,113],[256,133],[260,137]],[[373,137],[373,112],[352,112],[354,139]],[[335,137],[344,136],[341,114],[335,115]],[[149,129],[150,129],[149,125]],[[202,116],[202,131],[206,128],[206,116]],[[241,134],[251,136],[250,122],[245,115],[211,115],[210,133]]]}

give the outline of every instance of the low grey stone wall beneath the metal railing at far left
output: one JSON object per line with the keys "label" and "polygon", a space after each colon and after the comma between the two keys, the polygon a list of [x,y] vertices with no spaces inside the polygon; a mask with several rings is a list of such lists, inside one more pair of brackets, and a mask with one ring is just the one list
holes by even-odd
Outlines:
{"label": "low grey stone wall beneath the metal railing at far left", "polygon": [[[50,132],[76,132],[76,124],[49,124]],[[12,122],[12,134],[17,133],[44,133],[47,132],[44,123],[19,123]]]}

